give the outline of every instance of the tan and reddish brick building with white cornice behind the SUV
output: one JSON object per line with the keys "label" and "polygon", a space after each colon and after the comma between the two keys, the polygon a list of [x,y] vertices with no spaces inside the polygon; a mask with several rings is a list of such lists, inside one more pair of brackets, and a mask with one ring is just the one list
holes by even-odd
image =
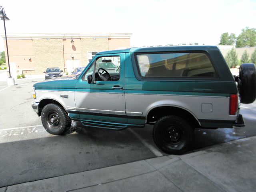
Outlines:
{"label": "tan and reddish brick building with white cornice behind the SUV", "polygon": [[[8,34],[11,75],[43,74],[47,67],[71,72],[100,51],[130,47],[131,33]],[[4,36],[2,36],[4,38]],[[6,50],[6,42],[4,38]],[[7,54],[6,54],[7,56]],[[6,58],[7,61],[7,58]]]}

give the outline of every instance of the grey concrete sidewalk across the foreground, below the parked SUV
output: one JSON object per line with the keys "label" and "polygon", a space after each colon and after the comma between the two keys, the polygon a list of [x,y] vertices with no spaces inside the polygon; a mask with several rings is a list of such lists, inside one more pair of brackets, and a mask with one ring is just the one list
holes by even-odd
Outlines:
{"label": "grey concrete sidewalk across the foreground, below the parked SUV", "polygon": [[[60,162],[61,163],[61,162]],[[27,191],[256,191],[256,136],[181,156],[162,156],[0,188]]]}

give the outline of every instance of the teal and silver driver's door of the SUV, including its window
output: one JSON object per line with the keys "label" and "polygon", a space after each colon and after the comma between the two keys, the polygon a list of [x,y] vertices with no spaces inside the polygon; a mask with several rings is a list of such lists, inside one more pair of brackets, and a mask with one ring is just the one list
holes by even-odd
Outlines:
{"label": "teal and silver driver's door of the SUV, including its window", "polygon": [[[94,74],[89,84],[87,76]],[[81,74],[75,89],[76,109],[81,119],[127,122],[124,96],[124,54],[96,55]]]}

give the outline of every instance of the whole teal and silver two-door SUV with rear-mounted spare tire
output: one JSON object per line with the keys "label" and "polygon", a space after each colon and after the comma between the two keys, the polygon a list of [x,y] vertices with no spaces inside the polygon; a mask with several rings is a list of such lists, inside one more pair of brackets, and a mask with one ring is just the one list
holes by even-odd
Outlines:
{"label": "whole teal and silver two-door SUV with rear-mounted spare tire", "polygon": [[241,103],[256,98],[254,64],[232,76],[216,46],[130,48],[97,53],[79,76],[34,84],[32,108],[60,135],[71,120],[122,130],[153,124],[163,152],[182,154],[196,128],[244,126]]}

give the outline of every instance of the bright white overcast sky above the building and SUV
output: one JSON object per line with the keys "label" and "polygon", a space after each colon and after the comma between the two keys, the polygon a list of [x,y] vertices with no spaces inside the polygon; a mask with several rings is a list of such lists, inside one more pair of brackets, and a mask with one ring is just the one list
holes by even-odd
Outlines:
{"label": "bright white overcast sky above the building and SUV", "polygon": [[256,28],[256,0],[2,0],[0,5],[10,18],[7,34],[130,32],[131,47],[216,45],[224,32]]}

